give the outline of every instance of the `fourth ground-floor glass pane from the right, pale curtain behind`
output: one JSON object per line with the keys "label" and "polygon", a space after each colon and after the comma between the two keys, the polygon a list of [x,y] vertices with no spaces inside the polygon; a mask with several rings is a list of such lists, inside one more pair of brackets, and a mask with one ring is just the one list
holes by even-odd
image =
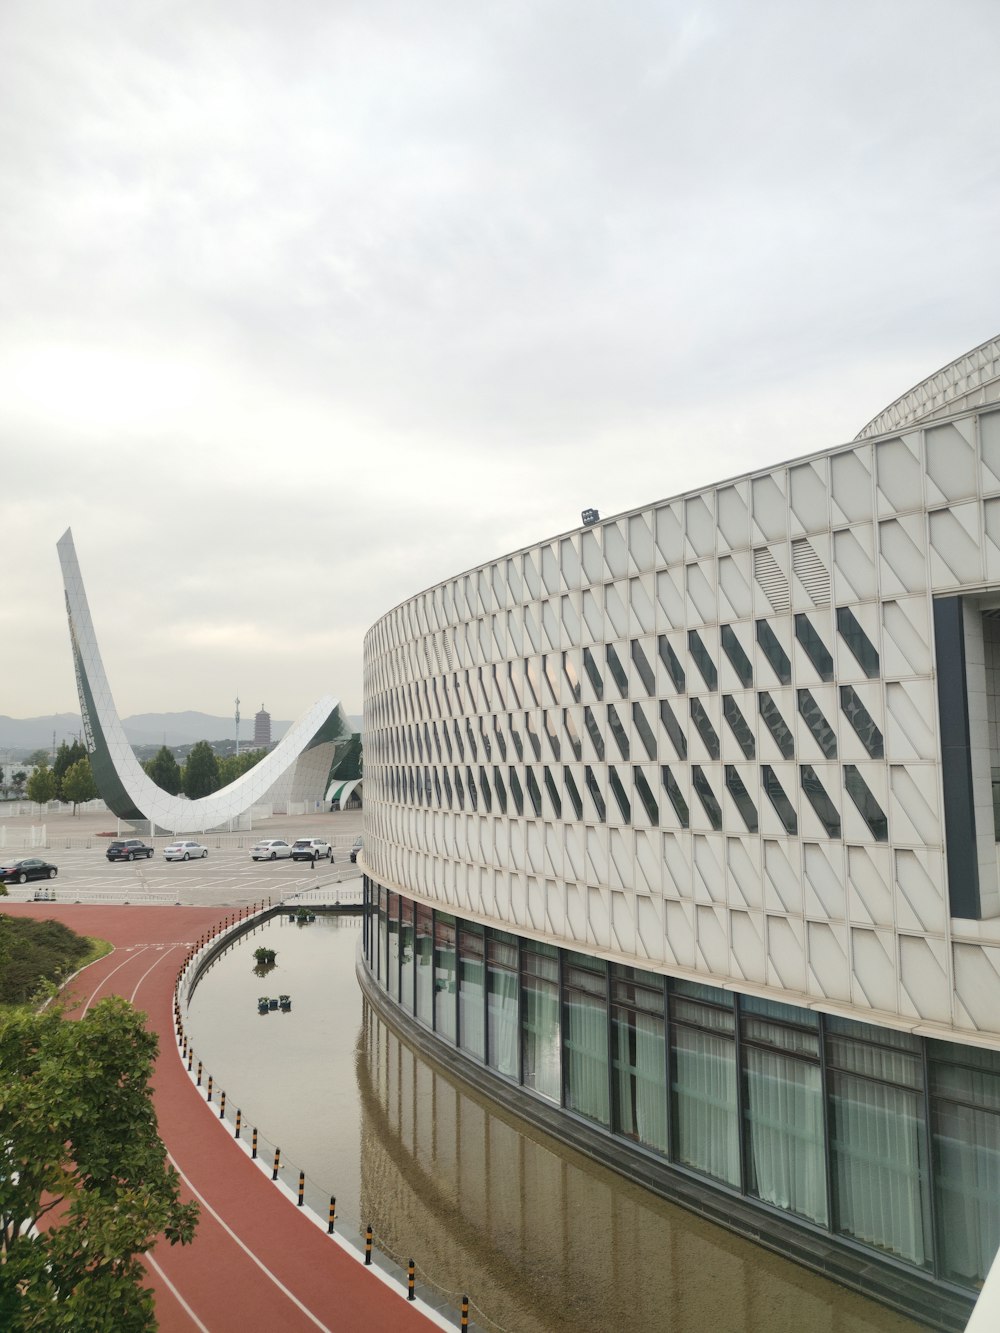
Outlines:
{"label": "fourth ground-floor glass pane from the right, pale curtain behind", "polygon": [[677,1161],[740,1184],[733,1016],[691,998],[671,1004],[671,1092]]}

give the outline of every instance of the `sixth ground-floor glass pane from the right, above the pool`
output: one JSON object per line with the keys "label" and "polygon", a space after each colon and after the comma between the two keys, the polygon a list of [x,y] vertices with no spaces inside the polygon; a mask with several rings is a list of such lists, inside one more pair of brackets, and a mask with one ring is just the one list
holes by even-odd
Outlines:
{"label": "sixth ground-floor glass pane from the right, above the pool", "polygon": [[567,952],[563,997],[567,1108],[609,1125],[607,964]]}

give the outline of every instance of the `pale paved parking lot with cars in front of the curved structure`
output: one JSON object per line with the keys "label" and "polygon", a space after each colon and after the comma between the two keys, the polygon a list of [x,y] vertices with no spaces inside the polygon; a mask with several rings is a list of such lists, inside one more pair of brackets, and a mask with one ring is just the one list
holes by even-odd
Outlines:
{"label": "pale paved parking lot with cars in front of the curved structure", "polygon": [[[137,837],[127,825],[119,828],[113,814],[47,814],[43,820],[24,816],[0,820],[0,857],[16,860],[40,856],[59,866],[55,880],[8,885],[12,901],[32,901],[36,890],[55,890],[57,902],[160,902],[197,906],[243,906],[271,897],[273,901],[304,889],[328,884],[355,885],[360,870],[349,860],[353,840],[361,832],[360,810],[343,813],[273,816],[256,822],[252,830],[237,833],[188,833],[208,848],[196,861],[165,861],[163,849],[173,838],[143,837],[153,848],[151,860],[108,861],[111,837]],[[44,844],[25,845],[40,837]],[[317,861],[252,861],[251,848],[267,837],[321,837],[333,846],[333,864]]]}

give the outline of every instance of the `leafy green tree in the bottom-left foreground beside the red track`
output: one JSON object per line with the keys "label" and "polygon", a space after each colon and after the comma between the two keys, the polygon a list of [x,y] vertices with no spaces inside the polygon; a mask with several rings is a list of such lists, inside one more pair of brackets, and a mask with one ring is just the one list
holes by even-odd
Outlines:
{"label": "leafy green tree in the bottom-left foreground beside the red track", "polygon": [[159,1236],[187,1244],[197,1222],[157,1134],[156,1048],[119,996],[79,1022],[59,1009],[0,1017],[4,1329],[156,1328],[140,1258]]}

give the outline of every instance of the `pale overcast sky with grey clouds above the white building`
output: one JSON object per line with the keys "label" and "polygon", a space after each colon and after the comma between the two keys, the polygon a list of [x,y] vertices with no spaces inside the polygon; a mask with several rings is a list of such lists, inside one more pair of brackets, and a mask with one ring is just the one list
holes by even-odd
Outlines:
{"label": "pale overcast sky with grey clouds above the white building", "polygon": [[[4,0],[0,713],[323,693],[1000,332],[996,0]],[[245,730],[244,730],[245,734]]]}

